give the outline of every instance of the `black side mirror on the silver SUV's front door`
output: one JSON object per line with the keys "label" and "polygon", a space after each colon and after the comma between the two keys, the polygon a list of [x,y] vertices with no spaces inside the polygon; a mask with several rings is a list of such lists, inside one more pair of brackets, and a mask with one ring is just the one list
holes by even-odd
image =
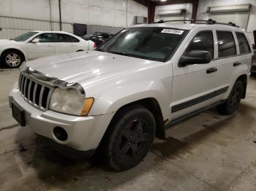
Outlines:
{"label": "black side mirror on the silver SUV's front door", "polygon": [[181,56],[178,66],[183,67],[195,63],[204,64],[211,62],[211,52],[206,50],[192,50]]}

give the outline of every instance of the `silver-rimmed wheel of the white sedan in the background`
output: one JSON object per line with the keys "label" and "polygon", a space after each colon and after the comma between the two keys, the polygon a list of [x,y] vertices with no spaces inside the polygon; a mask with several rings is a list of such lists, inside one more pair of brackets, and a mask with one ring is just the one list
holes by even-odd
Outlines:
{"label": "silver-rimmed wheel of the white sedan in the background", "polygon": [[7,50],[1,55],[2,65],[8,69],[20,67],[23,61],[25,61],[24,56],[17,50]]}

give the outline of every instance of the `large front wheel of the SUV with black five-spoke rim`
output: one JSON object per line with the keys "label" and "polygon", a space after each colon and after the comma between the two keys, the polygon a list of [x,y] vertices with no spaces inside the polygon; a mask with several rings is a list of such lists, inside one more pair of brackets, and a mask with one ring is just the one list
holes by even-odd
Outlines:
{"label": "large front wheel of the SUV with black five-spoke rim", "polygon": [[101,150],[111,168],[125,171],[138,165],[154,140],[156,122],[143,106],[121,109],[110,123]]}

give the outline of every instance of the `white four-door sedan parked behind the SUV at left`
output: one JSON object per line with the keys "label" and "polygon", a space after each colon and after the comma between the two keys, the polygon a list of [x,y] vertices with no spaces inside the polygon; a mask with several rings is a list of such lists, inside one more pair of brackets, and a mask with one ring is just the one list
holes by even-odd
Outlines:
{"label": "white four-door sedan parked behind the SUV at left", "polygon": [[0,66],[18,68],[23,61],[93,49],[94,42],[64,31],[29,31],[0,40]]}

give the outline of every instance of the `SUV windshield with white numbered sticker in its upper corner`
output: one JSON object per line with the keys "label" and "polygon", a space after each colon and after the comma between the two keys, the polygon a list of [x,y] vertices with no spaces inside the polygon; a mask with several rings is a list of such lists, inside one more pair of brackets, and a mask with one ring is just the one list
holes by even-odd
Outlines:
{"label": "SUV windshield with white numbered sticker in its upper corner", "polygon": [[127,28],[97,50],[165,62],[173,55],[186,34],[187,31],[176,28]]}

